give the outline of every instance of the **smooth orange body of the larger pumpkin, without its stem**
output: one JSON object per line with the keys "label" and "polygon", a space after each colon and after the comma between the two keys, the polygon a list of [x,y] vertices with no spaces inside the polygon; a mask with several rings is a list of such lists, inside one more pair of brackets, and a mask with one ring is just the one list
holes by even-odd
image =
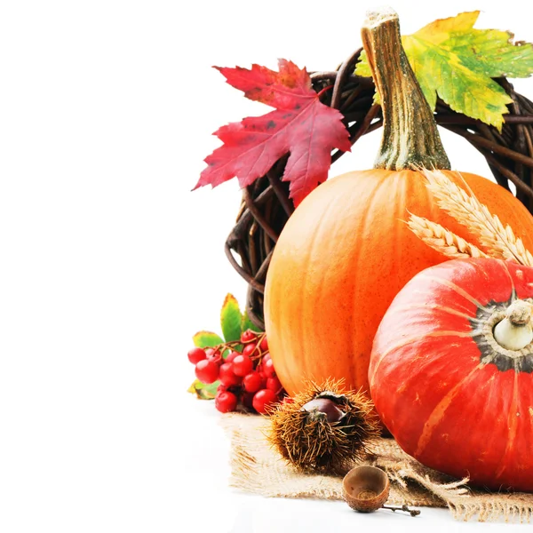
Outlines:
{"label": "smooth orange body of the larger pumpkin, without its stem", "polygon": [[[523,204],[489,179],[463,177],[533,250],[533,218]],[[290,217],[268,268],[264,304],[270,354],[289,394],[309,378],[344,378],[346,388],[369,390],[372,340],[387,307],[415,274],[447,259],[410,231],[409,212],[480,244],[436,205],[418,171],[343,174]]]}

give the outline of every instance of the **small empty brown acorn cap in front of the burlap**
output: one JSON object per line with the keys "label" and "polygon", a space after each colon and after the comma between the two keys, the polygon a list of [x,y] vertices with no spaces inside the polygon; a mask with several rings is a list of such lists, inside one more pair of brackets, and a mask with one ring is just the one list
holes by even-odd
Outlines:
{"label": "small empty brown acorn cap in front of the burlap", "polygon": [[377,511],[389,495],[388,476],[376,466],[355,466],[346,473],[342,492],[346,503],[355,511]]}

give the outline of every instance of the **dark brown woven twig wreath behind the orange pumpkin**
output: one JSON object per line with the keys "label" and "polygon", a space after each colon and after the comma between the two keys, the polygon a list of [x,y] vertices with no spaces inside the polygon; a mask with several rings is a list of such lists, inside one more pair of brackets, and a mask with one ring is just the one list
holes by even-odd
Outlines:
{"label": "dark brown woven twig wreath behind the orange pumpkin", "polygon": [[[362,49],[357,50],[337,70],[313,72],[315,91],[324,91],[322,103],[337,108],[344,115],[352,145],[383,124],[381,108],[373,104],[371,78],[354,76]],[[533,213],[533,102],[513,90],[505,78],[495,80],[513,99],[508,106],[502,131],[468,116],[456,113],[442,100],[437,101],[435,120],[443,128],[461,135],[476,147],[489,163],[497,183],[510,190]],[[343,155],[335,150],[331,162]],[[249,284],[246,309],[254,322],[264,329],[263,294],[267,269],[274,245],[294,206],[289,199],[289,184],[282,181],[288,155],[284,155],[265,176],[243,189],[243,203],[235,227],[226,241],[226,254],[235,270]]]}

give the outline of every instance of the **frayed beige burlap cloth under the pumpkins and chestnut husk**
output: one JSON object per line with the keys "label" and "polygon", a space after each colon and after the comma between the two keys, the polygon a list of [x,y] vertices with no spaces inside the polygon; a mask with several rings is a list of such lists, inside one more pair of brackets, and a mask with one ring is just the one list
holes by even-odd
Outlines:
{"label": "frayed beige burlap cloth under the pumpkins and chestnut husk", "polygon": [[[266,497],[342,499],[342,478],[298,473],[270,448],[267,417],[227,414],[221,425],[231,439],[231,480],[237,489]],[[393,439],[380,439],[367,464],[383,468],[391,481],[387,505],[448,507],[458,520],[529,522],[533,494],[470,489],[456,479],[421,465]]]}

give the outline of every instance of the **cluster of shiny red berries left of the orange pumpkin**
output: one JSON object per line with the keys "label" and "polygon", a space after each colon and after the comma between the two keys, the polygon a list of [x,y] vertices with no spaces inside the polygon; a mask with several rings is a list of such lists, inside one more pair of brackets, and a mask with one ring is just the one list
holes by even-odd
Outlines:
{"label": "cluster of shiny red berries left of the orange pumpkin", "polygon": [[[235,349],[239,345],[241,352]],[[212,348],[193,348],[188,359],[195,364],[199,381],[220,381],[215,407],[222,413],[239,409],[266,413],[285,396],[268,353],[266,333],[246,330],[240,340]]]}

